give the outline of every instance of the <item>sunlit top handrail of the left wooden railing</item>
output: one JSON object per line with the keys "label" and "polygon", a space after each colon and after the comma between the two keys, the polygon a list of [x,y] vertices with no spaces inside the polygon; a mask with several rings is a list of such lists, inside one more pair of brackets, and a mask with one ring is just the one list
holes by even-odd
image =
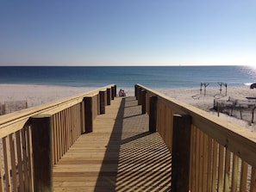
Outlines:
{"label": "sunlit top handrail of the left wooden railing", "polygon": [[[3,138],[10,133],[14,133],[22,128],[22,124],[24,125],[28,119],[33,115],[39,115],[41,113],[51,113],[51,110],[56,108],[61,108],[61,106],[68,105],[68,103],[72,103],[72,105],[82,102],[85,96],[94,96],[97,95],[99,90],[106,90],[107,88],[114,86],[114,84],[109,84],[104,87],[98,88],[96,90],[91,90],[86,93],[81,93],[75,96],[69,96],[66,98],[61,98],[59,100],[53,102],[47,102],[45,104],[41,104],[38,106],[34,106],[31,108],[25,108],[20,111],[13,112],[7,115],[0,116],[0,138]],[[72,106],[70,105],[70,107]],[[14,126],[16,124],[16,126]],[[11,129],[8,127],[11,126]]]}

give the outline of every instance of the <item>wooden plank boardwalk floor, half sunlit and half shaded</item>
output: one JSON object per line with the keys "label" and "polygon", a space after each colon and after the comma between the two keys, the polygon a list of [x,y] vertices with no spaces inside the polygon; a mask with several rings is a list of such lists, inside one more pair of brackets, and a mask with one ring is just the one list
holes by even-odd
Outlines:
{"label": "wooden plank boardwalk floor, half sunlit and half shaded", "polygon": [[53,167],[53,191],[170,191],[171,158],[135,97],[116,97]]}

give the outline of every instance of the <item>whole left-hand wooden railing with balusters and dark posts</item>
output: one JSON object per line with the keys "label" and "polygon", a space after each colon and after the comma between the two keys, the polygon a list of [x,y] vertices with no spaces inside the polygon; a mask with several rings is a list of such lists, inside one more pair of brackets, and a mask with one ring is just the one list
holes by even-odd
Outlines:
{"label": "whole left-hand wooden railing with balusters and dark posts", "polygon": [[116,85],[0,116],[0,191],[51,191],[53,164],[116,96]]}

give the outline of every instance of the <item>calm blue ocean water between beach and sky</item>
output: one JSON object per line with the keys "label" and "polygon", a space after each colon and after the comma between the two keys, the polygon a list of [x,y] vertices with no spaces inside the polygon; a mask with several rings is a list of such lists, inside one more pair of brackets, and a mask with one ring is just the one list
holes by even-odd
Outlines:
{"label": "calm blue ocean water between beach and sky", "polygon": [[0,84],[54,84],[101,87],[116,84],[149,88],[199,87],[256,83],[252,66],[0,66]]}

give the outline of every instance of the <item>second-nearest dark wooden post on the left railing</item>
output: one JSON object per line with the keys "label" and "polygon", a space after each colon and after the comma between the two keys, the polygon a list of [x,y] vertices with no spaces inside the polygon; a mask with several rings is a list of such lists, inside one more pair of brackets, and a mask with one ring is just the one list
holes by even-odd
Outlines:
{"label": "second-nearest dark wooden post on the left railing", "polygon": [[91,133],[93,131],[93,109],[92,109],[92,97],[84,97],[84,121],[85,121],[85,133]]}

